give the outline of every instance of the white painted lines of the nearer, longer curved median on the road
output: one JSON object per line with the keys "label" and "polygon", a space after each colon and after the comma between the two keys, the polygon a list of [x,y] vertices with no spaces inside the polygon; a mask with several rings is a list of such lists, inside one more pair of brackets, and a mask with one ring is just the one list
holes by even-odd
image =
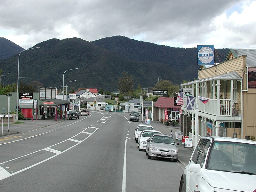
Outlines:
{"label": "white painted lines of the nearer, longer curved median on the road", "polygon": [[[87,127],[86,129],[88,129],[88,128],[94,128],[94,129],[95,129],[95,130],[92,132],[92,134],[93,134],[95,131],[98,130],[97,127]],[[85,130],[86,130],[86,129],[85,129]],[[85,131],[85,130],[84,130],[84,131]],[[80,133],[81,133],[81,132],[80,132]],[[76,134],[75,136],[79,135],[80,133]],[[92,134],[91,134],[91,135],[92,135]],[[88,135],[84,140],[88,139],[91,135]],[[75,137],[75,136],[73,136],[73,137]],[[71,137],[71,138],[69,138],[69,139],[72,139],[73,137]],[[69,140],[69,139],[67,139],[67,140]],[[7,162],[11,162],[11,161],[14,161],[14,160],[16,160],[16,159],[20,159],[20,158],[22,158],[22,157],[26,157],[26,156],[29,156],[29,155],[31,155],[31,154],[35,154],[35,153],[37,153],[37,152],[39,152],[39,151],[49,150],[49,148],[52,148],[53,146],[58,145],[58,144],[60,144],[60,143],[63,143],[63,142],[65,142],[65,141],[67,141],[67,140],[61,141],[61,142],[56,143],[56,144],[54,144],[54,145],[52,145],[52,146],[49,146],[49,147],[44,148],[44,149],[40,149],[40,150],[38,150],[38,151],[29,153],[29,154],[27,154],[27,155],[14,158],[14,159],[11,159],[11,160],[9,160],[9,161],[5,161],[5,162],[3,162],[3,163],[1,163],[1,164],[5,164],[5,163],[7,163]],[[20,171],[14,172],[14,173],[12,173],[12,174],[6,174],[6,170],[0,169],[0,180],[3,180],[3,179],[5,179],[5,178],[7,178],[7,177],[10,177],[10,176],[12,176],[12,175],[16,175],[16,174],[18,174],[18,173],[20,173],[20,172],[23,172],[23,171],[26,171],[26,170],[28,170],[28,169],[30,169],[30,168],[32,168],[32,167],[35,167],[36,165],[39,165],[39,164],[41,164],[41,163],[44,163],[45,161],[48,161],[48,160],[50,160],[50,159],[52,159],[52,158],[54,158],[54,157],[60,155],[61,153],[64,153],[64,152],[68,151],[69,149],[72,149],[73,147],[76,147],[77,145],[79,145],[80,143],[82,143],[84,140],[80,141],[79,143],[76,143],[75,145],[71,146],[70,148],[67,148],[66,150],[64,150],[64,151],[62,151],[62,152],[60,152],[60,153],[58,153],[58,154],[56,154],[56,155],[53,155],[53,156],[51,156],[51,157],[49,157],[49,158],[47,158],[47,159],[44,159],[43,161],[40,161],[40,162],[38,162],[38,163],[36,163],[36,164],[33,164],[33,165],[30,165],[29,167],[26,167],[26,168],[24,168],[24,169],[21,169]],[[51,152],[52,152],[52,151],[51,151]],[[57,152],[57,150],[55,150],[55,152]]]}

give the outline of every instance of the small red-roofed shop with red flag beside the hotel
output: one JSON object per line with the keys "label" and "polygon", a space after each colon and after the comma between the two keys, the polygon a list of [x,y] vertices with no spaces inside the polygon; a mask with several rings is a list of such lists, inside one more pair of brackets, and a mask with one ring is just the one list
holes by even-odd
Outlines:
{"label": "small red-roofed shop with red flag beside the hotel", "polygon": [[167,109],[168,121],[179,121],[180,106],[174,105],[174,97],[158,97],[154,104],[153,120],[163,119],[165,122],[164,110]]}

